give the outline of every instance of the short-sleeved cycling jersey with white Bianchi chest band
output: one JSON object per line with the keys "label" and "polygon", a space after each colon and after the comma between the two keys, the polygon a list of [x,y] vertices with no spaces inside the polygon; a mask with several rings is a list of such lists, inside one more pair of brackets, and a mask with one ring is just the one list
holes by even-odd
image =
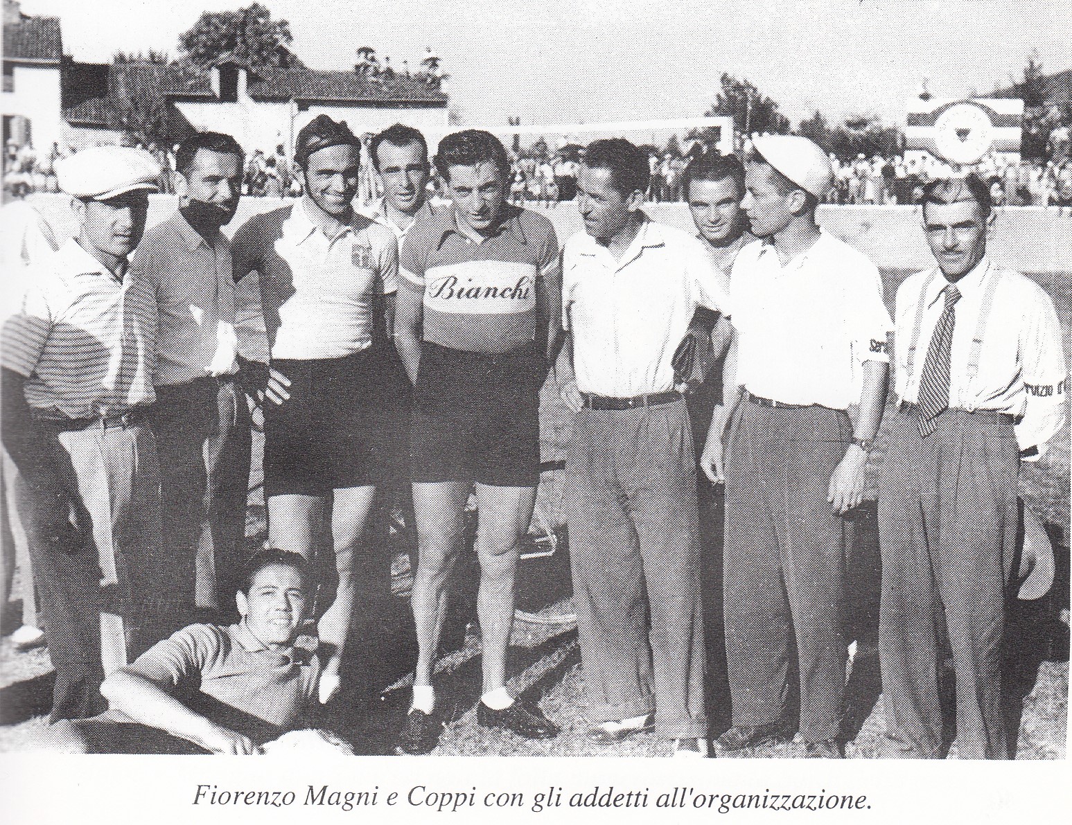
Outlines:
{"label": "short-sleeved cycling jersey with white Bianchi chest band", "polygon": [[[406,234],[403,288],[423,295],[423,338],[470,352],[511,352],[536,340],[537,283],[559,266],[559,240],[542,215],[504,208],[477,242],[453,209],[428,215]],[[540,285],[542,287],[542,285]]]}

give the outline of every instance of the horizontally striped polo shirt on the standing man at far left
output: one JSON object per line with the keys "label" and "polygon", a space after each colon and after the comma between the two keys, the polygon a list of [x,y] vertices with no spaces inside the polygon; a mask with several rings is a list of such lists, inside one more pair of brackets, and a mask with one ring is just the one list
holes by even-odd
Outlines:
{"label": "horizontally striped polo shirt on the standing man at far left", "polygon": [[3,365],[27,378],[32,408],[89,418],[155,401],[157,302],[144,282],[120,281],[74,239],[28,281],[3,326]]}

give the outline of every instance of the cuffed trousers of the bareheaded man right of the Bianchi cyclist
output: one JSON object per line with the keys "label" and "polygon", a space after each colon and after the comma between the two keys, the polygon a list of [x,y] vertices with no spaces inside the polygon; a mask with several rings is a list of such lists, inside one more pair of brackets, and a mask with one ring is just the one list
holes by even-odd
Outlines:
{"label": "cuffed trousers of the bareheaded man right of the Bianchi cyclist", "polygon": [[566,472],[589,718],[654,710],[662,736],[705,736],[696,458],[684,402],[582,409]]}

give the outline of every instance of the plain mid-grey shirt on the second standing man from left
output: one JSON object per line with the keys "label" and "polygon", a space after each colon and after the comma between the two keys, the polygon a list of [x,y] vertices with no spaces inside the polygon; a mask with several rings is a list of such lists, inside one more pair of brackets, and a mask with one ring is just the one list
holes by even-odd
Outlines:
{"label": "plain mid-grey shirt on the second standing man from left", "polygon": [[[208,374],[218,347],[227,347],[220,325],[235,321],[235,279],[227,239],[212,242],[176,212],[145,234],[129,278],[145,279],[157,297],[158,387],[189,384]],[[234,352],[225,360],[234,361]]]}

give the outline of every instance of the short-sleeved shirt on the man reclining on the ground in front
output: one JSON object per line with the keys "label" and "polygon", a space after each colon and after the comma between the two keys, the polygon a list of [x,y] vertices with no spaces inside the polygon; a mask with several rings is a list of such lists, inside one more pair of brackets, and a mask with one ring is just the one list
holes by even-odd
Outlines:
{"label": "short-sleeved shirt on the man reclining on the ground in front", "polygon": [[276,650],[244,625],[191,625],[124,670],[218,724],[264,740],[306,725],[319,668],[311,638]]}

